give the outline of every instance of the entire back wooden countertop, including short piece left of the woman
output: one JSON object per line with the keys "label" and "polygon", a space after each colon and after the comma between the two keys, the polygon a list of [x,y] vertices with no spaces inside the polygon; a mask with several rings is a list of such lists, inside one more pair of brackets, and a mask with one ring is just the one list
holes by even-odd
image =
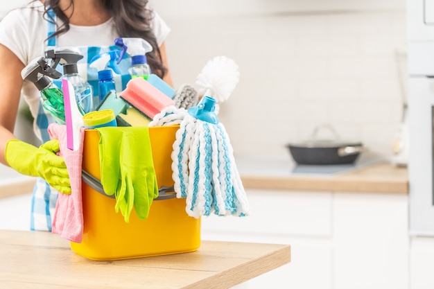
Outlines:
{"label": "entire back wooden countertop, including short piece left of the woman", "polygon": [[[293,191],[338,191],[354,193],[408,193],[408,170],[386,161],[333,175],[288,173],[289,161],[280,164],[260,159],[236,159],[245,189]],[[240,166],[241,165],[241,166]],[[246,169],[247,168],[247,169]],[[14,184],[0,183],[0,199],[33,191],[34,179]]]}

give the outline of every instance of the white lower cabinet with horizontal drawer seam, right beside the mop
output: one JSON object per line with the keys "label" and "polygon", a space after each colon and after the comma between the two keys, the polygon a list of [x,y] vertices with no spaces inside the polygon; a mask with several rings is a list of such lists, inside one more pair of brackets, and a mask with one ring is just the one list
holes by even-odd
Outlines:
{"label": "white lower cabinet with horizontal drawer seam, right beside the mop", "polygon": [[291,261],[239,288],[331,288],[331,193],[247,193],[252,215],[202,218],[202,239],[290,244]]}

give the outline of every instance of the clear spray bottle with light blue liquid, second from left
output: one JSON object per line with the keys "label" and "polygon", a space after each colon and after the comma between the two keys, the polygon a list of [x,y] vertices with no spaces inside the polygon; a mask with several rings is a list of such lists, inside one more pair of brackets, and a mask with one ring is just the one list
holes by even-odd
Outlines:
{"label": "clear spray bottle with light blue liquid, second from left", "polygon": [[78,74],[77,62],[83,58],[78,49],[58,48],[45,51],[45,57],[52,60],[51,67],[63,66],[63,78],[69,80],[76,94],[78,109],[82,114],[94,110],[94,91],[84,78]]}

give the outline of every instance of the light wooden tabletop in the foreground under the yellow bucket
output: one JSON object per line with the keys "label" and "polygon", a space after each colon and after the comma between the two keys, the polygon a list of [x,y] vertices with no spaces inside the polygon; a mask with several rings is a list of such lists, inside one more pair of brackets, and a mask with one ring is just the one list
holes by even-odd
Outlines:
{"label": "light wooden tabletop in the foreground under the yellow bucket", "polygon": [[289,245],[203,240],[196,252],[92,261],[60,236],[0,230],[1,288],[230,288],[290,262]]}

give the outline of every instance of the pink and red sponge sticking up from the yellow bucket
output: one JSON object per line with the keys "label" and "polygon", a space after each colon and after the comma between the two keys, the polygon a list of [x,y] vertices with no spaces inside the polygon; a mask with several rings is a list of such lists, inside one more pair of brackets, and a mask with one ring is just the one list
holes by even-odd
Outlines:
{"label": "pink and red sponge sticking up from the yellow bucket", "polygon": [[164,107],[175,104],[173,99],[144,78],[134,78],[128,81],[127,87],[121,93],[121,98],[150,119],[153,119],[155,114],[161,112]]}

